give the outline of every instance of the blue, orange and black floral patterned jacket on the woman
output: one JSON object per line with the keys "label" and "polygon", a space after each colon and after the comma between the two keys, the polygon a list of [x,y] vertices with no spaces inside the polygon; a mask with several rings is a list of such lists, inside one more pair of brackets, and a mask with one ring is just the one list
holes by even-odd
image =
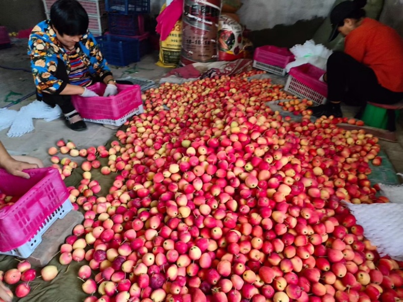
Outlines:
{"label": "blue, orange and black floral patterned jacket on the woman", "polygon": [[[76,51],[80,55],[90,74],[94,78],[105,78],[111,75],[106,59],[102,56],[94,36],[87,31],[81,41],[76,44]],[[29,37],[28,55],[31,57],[31,69],[39,96],[41,92],[58,94],[66,84],[55,77],[57,59],[64,62],[67,73],[71,65],[69,56],[56,38],[50,20],[36,25]]]}

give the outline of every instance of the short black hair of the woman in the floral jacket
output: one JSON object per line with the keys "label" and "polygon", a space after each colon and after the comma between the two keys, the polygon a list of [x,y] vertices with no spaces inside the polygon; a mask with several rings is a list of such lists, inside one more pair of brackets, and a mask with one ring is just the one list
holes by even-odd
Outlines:
{"label": "short black hair of the woman in the floral jacket", "polygon": [[77,0],[57,0],[50,8],[50,22],[61,36],[79,36],[87,32],[89,21]]}

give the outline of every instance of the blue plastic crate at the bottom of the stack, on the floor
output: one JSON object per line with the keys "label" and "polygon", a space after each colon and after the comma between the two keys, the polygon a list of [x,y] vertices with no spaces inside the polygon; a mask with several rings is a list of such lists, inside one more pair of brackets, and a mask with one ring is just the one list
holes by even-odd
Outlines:
{"label": "blue plastic crate at the bottom of the stack, on the floor", "polygon": [[97,37],[103,56],[110,65],[127,66],[139,62],[149,50],[148,33],[136,37],[123,37],[106,33]]}

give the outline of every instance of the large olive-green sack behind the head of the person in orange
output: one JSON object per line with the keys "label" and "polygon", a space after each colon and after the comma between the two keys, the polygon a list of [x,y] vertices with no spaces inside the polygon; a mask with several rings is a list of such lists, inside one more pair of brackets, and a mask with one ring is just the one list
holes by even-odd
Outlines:
{"label": "large olive-green sack behind the head of the person in orange", "polygon": [[[345,0],[336,0],[332,9],[339,3],[344,1]],[[365,12],[367,13],[367,17],[379,20],[379,16],[383,8],[383,3],[384,0],[368,0],[367,5],[364,7]],[[342,37],[342,35],[338,35],[337,38],[335,38],[333,41],[328,42],[330,32],[331,32],[330,18],[327,17],[314,34],[313,40],[316,42],[316,44],[323,44],[329,49],[343,51],[344,38]]]}

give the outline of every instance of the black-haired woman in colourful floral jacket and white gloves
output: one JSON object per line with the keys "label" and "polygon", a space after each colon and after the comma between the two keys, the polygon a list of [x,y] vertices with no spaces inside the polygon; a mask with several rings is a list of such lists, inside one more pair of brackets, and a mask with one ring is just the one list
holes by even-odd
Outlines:
{"label": "black-haired woman in colourful floral jacket and white gloves", "polygon": [[66,125],[75,131],[87,126],[72,104],[72,95],[97,96],[86,88],[96,81],[107,85],[104,96],[117,93],[88,23],[79,2],[57,0],[50,9],[50,20],[36,25],[28,42],[38,99],[52,107],[59,105]]}

